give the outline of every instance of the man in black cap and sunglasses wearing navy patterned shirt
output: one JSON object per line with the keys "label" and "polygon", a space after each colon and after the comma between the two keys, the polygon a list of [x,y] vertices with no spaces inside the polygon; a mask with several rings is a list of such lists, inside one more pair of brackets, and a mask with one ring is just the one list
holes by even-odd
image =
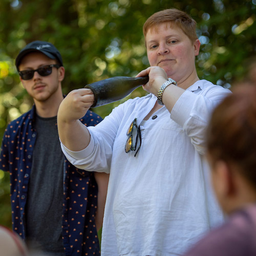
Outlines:
{"label": "man in black cap and sunglasses wearing navy patterned shirt", "polygon": [[[97,209],[97,203],[104,202],[108,176],[77,169],[61,152],[61,55],[50,42],[33,41],[15,64],[34,105],[8,125],[2,143],[0,168],[10,172],[13,230],[47,255],[99,255],[104,205]],[[80,119],[89,126],[101,120],[91,111]]]}

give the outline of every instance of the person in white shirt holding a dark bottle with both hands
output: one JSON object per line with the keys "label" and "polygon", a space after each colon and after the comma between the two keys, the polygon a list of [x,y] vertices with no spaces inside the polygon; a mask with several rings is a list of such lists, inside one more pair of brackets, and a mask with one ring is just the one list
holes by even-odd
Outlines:
{"label": "person in white shirt holding a dark bottle with both hands", "polygon": [[[177,9],[144,24],[151,67],[143,89],[95,127],[79,118],[93,104],[90,89],[70,92],[58,111],[62,151],[79,168],[110,173],[102,228],[102,256],[184,253],[223,221],[208,182],[205,129],[230,93],[200,80],[196,22]],[[122,84],[120,84],[122,86]]]}

